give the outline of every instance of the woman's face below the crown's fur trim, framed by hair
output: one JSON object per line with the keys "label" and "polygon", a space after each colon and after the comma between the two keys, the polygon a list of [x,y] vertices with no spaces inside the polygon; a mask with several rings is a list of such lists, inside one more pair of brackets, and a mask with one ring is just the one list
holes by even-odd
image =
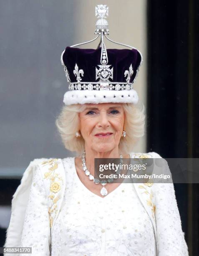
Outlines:
{"label": "woman's face below the crown's fur trim, framed by hair", "polygon": [[88,148],[108,152],[118,147],[125,118],[122,103],[86,104],[79,118],[80,131]]}

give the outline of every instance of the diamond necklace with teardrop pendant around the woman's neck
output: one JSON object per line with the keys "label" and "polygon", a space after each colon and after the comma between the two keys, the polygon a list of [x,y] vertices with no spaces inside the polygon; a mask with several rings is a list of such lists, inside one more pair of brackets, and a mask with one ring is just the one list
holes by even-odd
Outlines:
{"label": "diamond necklace with teardrop pendant around the woman's neck", "polygon": [[[123,156],[120,154],[120,161],[121,161],[121,163],[123,162],[122,159],[123,159]],[[90,180],[93,180],[93,182],[94,182],[96,185],[99,184],[99,183],[101,183],[101,185],[103,186],[103,188],[101,189],[100,194],[101,194],[102,196],[106,196],[106,195],[108,194],[108,191],[107,191],[107,189],[106,189],[104,186],[107,184],[107,182],[106,182],[106,180],[101,180],[101,182],[100,182],[99,179],[94,179],[93,175],[88,171],[87,166],[86,166],[86,151],[83,152],[83,155],[82,155],[81,160],[82,160],[83,171],[84,171],[84,173],[86,174],[86,176],[88,176],[88,178],[89,178]],[[116,178],[116,179],[117,179],[117,178]],[[113,181],[113,179],[108,179],[108,180],[109,180],[109,182],[112,182],[112,181]]]}

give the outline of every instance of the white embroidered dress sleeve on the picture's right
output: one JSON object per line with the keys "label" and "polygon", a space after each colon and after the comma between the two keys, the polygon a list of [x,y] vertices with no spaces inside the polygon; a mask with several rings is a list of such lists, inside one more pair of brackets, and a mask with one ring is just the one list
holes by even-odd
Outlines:
{"label": "white embroidered dress sleeve on the picture's right", "polygon": [[[171,175],[167,162],[165,168],[164,174]],[[156,183],[154,186],[156,194],[157,256],[188,256],[174,184]]]}

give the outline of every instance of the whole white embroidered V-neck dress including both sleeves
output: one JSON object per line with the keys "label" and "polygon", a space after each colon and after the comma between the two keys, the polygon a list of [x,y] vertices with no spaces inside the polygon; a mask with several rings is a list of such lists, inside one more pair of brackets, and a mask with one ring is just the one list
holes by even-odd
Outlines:
{"label": "whole white embroidered V-neck dress including both sleeves", "polygon": [[[13,224],[17,218],[16,202],[17,205],[20,203],[18,198],[18,201],[13,201],[13,217],[5,246],[20,243],[18,246],[32,247],[33,256],[188,256],[172,183],[153,185],[157,187],[158,198],[154,215],[156,239],[151,217],[134,184],[122,183],[102,198],[80,181],[74,158],[62,159],[61,162],[65,190],[51,235],[49,195],[46,195],[40,167],[36,165],[20,242],[15,238],[18,230]],[[23,195],[22,189],[16,197],[20,197],[18,194]]]}

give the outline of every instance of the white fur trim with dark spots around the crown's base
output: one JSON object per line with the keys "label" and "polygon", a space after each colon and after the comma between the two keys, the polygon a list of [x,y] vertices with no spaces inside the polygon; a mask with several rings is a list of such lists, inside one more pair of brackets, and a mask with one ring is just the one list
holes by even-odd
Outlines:
{"label": "white fur trim with dark spots around the crown's base", "polygon": [[65,105],[108,102],[136,104],[138,94],[135,90],[73,90],[65,92],[63,102]]}

